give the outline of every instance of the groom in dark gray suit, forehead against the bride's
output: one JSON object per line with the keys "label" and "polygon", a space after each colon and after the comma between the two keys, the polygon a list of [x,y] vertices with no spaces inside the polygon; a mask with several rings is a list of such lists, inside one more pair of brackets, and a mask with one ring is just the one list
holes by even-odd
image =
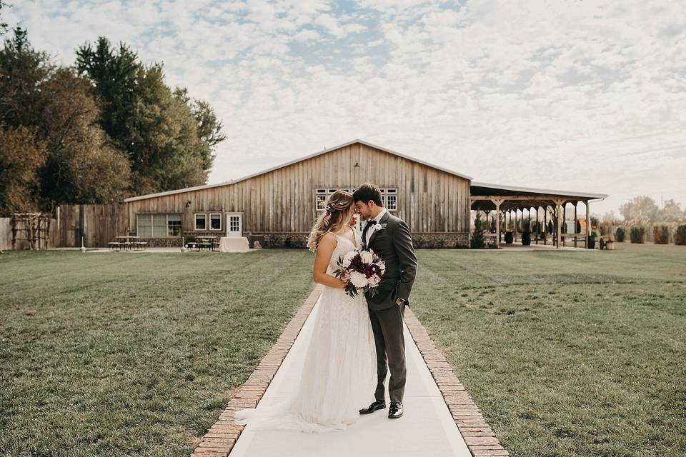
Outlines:
{"label": "groom in dark gray suit, forehead against the bride's", "polygon": [[379,254],[386,262],[386,271],[377,294],[372,297],[367,293],[366,296],[377,346],[376,401],[369,408],[360,409],[359,413],[368,414],[386,408],[384,381],[390,369],[388,392],[391,406],[388,417],[399,418],[402,416],[406,374],[402,319],[405,306],[409,306],[409,292],[417,272],[417,257],[414,256],[407,224],[384,208],[379,187],[362,184],[352,197],[362,221],[367,221],[362,230],[362,246]]}

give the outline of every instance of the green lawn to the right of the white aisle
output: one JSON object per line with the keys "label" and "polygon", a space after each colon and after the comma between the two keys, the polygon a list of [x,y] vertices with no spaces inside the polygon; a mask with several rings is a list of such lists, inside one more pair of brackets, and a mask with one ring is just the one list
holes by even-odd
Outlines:
{"label": "green lawn to the right of the white aisle", "polygon": [[420,251],[414,312],[512,456],[686,456],[686,247]]}

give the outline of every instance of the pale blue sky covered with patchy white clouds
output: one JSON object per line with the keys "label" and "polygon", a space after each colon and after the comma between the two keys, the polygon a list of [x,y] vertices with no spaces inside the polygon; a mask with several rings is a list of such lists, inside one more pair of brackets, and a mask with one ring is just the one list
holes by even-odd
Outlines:
{"label": "pale blue sky covered with patchy white clouds", "polygon": [[21,0],[34,48],[106,36],[212,104],[208,184],[363,139],[512,186],[686,206],[686,2]]}

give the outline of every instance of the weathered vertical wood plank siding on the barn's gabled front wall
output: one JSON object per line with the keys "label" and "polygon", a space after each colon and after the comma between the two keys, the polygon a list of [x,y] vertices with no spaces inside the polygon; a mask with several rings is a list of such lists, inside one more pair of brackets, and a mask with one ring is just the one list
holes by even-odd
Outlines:
{"label": "weathered vertical wood plank siding on the barn's gabled front wall", "polygon": [[[242,212],[244,233],[309,231],[316,217],[314,189],[366,181],[397,189],[394,214],[414,232],[469,231],[469,180],[364,144],[227,186],[131,201],[129,229],[136,230],[139,213],[181,213],[183,231],[193,231],[195,213],[217,211]],[[223,216],[222,231],[225,224]]]}

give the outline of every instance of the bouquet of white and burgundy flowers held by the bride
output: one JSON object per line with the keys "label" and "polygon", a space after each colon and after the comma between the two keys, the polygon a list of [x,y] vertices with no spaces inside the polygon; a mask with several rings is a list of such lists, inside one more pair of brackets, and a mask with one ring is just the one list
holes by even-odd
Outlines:
{"label": "bouquet of white and burgundy flowers held by the bride", "polygon": [[354,249],[337,261],[338,268],[334,275],[341,281],[346,281],[345,293],[354,297],[362,290],[370,296],[377,293],[377,286],[386,271],[386,263],[374,251]]}

